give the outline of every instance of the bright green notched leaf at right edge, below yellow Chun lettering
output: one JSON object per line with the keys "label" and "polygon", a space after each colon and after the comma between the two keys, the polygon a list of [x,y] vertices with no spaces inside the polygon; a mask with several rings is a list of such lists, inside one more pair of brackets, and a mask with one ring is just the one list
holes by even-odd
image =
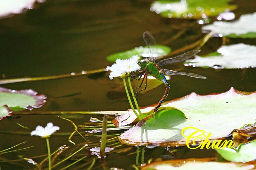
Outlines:
{"label": "bright green notched leaf at right edge, below yellow Chun lettering", "polygon": [[232,162],[249,162],[256,159],[256,140],[240,144],[236,149],[215,149],[224,159]]}

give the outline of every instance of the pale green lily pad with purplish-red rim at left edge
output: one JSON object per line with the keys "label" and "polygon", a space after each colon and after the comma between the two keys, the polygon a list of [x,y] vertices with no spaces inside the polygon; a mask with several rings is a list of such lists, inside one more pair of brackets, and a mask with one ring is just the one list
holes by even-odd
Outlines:
{"label": "pale green lily pad with purplish-red rim at left edge", "polygon": [[46,102],[46,98],[44,94],[38,94],[32,89],[11,90],[0,87],[0,120],[10,116],[12,111],[41,107]]}

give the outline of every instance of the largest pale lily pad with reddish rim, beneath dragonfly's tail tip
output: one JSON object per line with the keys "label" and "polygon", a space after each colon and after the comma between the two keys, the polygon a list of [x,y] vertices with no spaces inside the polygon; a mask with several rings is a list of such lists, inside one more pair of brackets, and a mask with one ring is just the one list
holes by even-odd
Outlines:
{"label": "largest pale lily pad with reddish rim, beneath dragonfly's tail tip", "polygon": [[[205,137],[211,133],[209,140],[222,139],[228,136],[233,129],[239,129],[244,124],[253,123],[256,118],[256,92],[240,92],[233,87],[228,91],[220,94],[199,95],[191,93],[182,98],[164,102],[163,107],[175,107],[182,111],[186,118],[180,114],[173,114],[172,110],[163,116],[163,110],[155,113],[157,123],[151,127],[148,120],[151,115],[136,124],[131,129],[120,135],[119,140],[128,145],[148,145],[148,146],[176,146],[185,145],[187,137],[181,135],[181,130],[186,127],[195,127],[205,131]],[[149,112],[154,106],[141,109],[142,113]],[[158,115],[159,114],[159,115]],[[126,117],[125,117],[126,116]],[[136,116],[129,113],[122,115],[124,120],[135,120]],[[128,117],[128,118],[127,118]],[[134,119],[133,119],[133,118]],[[155,118],[155,119],[156,119]],[[228,121],[227,121],[228,120]],[[167,124],[168,126],[162,126]],[[163,123],[161,123],[163,122]],[[195,132],[195,129],[187,129],[186,136]],[[203,137],[203,139],[205,139]],[[201,142],[200,139],[191,138],[190,143]]]}

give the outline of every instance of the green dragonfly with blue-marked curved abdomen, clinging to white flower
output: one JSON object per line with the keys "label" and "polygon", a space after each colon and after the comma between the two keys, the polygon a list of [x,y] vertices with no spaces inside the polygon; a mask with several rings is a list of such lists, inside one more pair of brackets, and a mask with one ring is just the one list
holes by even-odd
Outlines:
{"label": "green dragonfly with blue-marked curved abdomen, clinging to white flower", "polygon": [[[170,91],[170,85],[168,84],[164,75],[185,75],[185,76],[189,76],[189,77],[193,77],[193,78],[206,78],[199,74],[167,70],[167,69],[163,69],[160,67],[160,66],[164,66],[167,64],[178,63],[178,62],[187,60],[188,58],[199,53],[201,50],[188,51],[184,54],[156,62],[158,55],[157,55],[157,48],[156,48],[156,40],[155,40],[154,36],[151,33],[149,33],[148,31],[146,31],[143,33],[143,40],[144,40],[146,46],[148,47],[149,57],[146,57],[146,59],[140,60],[138,62],[138,64],[140,65],[140,68],[141,68],[140,74],[133,75],[131,77],[135,78],[136,76],[140,76],[138,79],[135,78],[136,80],[140,80],[140,78],[142,78],[142,76],[143,76],[140,86],[135,89],[140,88],[141,85],[143,84],[144,80],[145,80],[145,88],[142,90],[145,90],[147,88],[147,75],[151,75],[151,76],[155,77],[157,80],[160,80],[164,83],[164,85],[166,87],[164,95],[161,98],[161,100],[159,100],[157,105],[155,106],[154,112],[156,112],[158,110],[158,108],[163,104],[164,100],[167,98],[169,91]],[[135,89],[133,89],[133,90],[135,90]],[[142,90],[140,90],[138,92],[141,92]],[[136,94],[138,92],[136,92]]]}

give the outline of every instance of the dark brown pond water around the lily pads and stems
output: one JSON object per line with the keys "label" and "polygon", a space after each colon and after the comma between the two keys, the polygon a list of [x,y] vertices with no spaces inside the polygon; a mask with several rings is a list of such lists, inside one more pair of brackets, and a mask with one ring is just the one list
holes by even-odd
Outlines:
{"label": "dark brown pond water around the lily pads and stems", "polygon": [[[0,20],[0,73],[6,78],[41,77],[80,72],[82,70],[96,70],[112,64],[106,56],[144,45],[142,33],[151,32],[158,44],[164,44],[176,50],[189,45],[204,36],[201,26],[195,20],[162,18],[149,10],[151,1],[83,1],[83,0],[47,0],[36,4],[34,9],[25,13],[14,15]],[[238,6],[234,11],[236,16],[255,12],[256,3],[248,0],[235,2]],[[250,5],[248,5],[250,4]],[[237,18],[237,17],[236,17]],[[175,37],[177,34],[180,36]],[[255,39],[228,39],[228,44],[244,42],[255,45]],[[210,39],[201,49],[202,55],[216,51],[221,46],[221,38]],[[182,63],[173,64],[167,68],[193,72],[204,75],[207,79],[195,79],[186,76],[173,76],[169,81],[171,85],[166,100],[182,97],[191,92],[198,94],[226,92],[230,87],[240,91],[256,91],[256,69],[230,69],[215,70],[212,68],[184,67]],[[29,129],[22,129],[15,123],[5,119],[1,121],[1,131],[31,132],[37,125],[45,126],[48,122],[60,126],[58,132],[72,132],[70,122],[60,119],[57,115],[33,115],[33,112],[50,111],[107,111],[127,110],[130,108],[124,90],[117,92],[118,80],[109,80],[108,73],[97,73],[81,77],[62,78],[46,81],[20,82],[1,85],[10,89],[34,89],[47,96],[47,103],[32,110],[30,115],[14,115],[16,122]],[[123,87],[122,87],[123,88]],[[157,103],[164,93],[164,85],[136,96],[140,107]],[[76,125],[89,122],[90,117],[102,120],[102,115],[83,115],[72,119]],[[111,121],[112,117],[108,118]],[[228,120],[227,120],[228,121]],[[80,130],[83,132],[83,130]],[[122,133],[124,130],[118,131]],[[110,132],[109,134],[117,134]],[[98,133],[97,135],[100,135]],[[34,145],[26,152],[11,152],[4,154],[5,159],[16,160],[18,155],[25,158],[47,154],[46,143],[40,137],[30,135],[0,134],[0,150],[12,147],[27,141],[22,147]],[[99,144],[100,136],[89,136],[88,139]],[[72,137],[76,144],[85,144],[80,136]],[[61,145],[70,146],[63,154],[67,156],[79,148],[68,142],[68,136],[52,136],[50,138],[52,152]],[[112,142],[113,146],[120,145],[119,141]],[[98,145],[99,146],[99,145]],[[141,150],[142,148],[140,148]],[[175,157],[204,158],[215,156],[211,149],[190,150],[186,146],[172,148],[178,149]],[[110,152],[106,161],[109,167],[133,169],[136,164],[136,147],[120,146],[117,152]],[[162,155],[171,155],[167,148],[145,148],[144,161],[156,160]],[[144,152],[144,151],[143,151]],[[76,157],[81,158],[88,154],[88,150],[79,152]],[[80,156],[80,157],[79,157]],[[60,157],[61,158],[61,157]],[[88,155],[85,160],[76,166],[91,161],[96,156]],[[164,156],[164,158],[169,158]],[[41,159],[36,159],[40,162]],[[3,161],[3,159],[1,159]],[[67,166],[72,161],[64,163]],[[18,164],[15,164],[18,163]],[[138,163],[138,162],[137,162]],[[141,152],[139,163],[141,163]],[[33,169],[33,165],[26,161],[0,163],[1,169]],[[90,165],[90,163],[89,163]],[[85,167],[89,167],[89,165]],[[47,166],[47,163],[46,163]],[[57,168],[56,168],[57,169]],[[92,169],[102,169],[100,160]]]}

